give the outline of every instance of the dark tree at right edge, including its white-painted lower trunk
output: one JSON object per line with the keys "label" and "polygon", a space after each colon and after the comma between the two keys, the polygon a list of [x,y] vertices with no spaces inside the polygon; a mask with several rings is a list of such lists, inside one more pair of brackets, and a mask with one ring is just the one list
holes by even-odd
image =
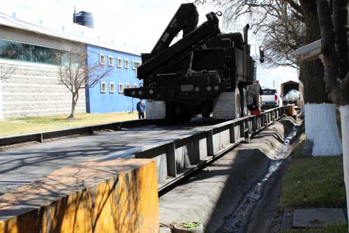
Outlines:
{"label": "dark tree at right edge, including its white-painted lower trunk", "polygon": [[339,106],[343,168],[349,216],[349,0],[318,0],[324,80],[329,97]]}

